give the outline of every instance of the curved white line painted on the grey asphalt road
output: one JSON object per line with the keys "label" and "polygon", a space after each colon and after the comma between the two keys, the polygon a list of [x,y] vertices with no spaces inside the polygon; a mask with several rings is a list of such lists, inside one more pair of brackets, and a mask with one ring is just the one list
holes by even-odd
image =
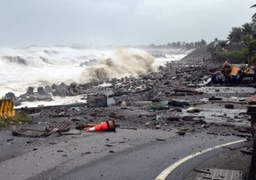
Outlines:
{"label": "curved white line painted on the grey asphalt road", "polygon": [[160,173],[156,178],[155,180],[164,180],[167,176],[169,176],[169,174],[171,173],[171,171],[173,171],[174,169],[176,169],[180,164],[192,159],[193,157],[197,156],[197,155],[202,155],[204,153],[207,153],[211,150],[214,150],[216,148],[222,148],[222,147],[225,147],[225,146],[229,146],[229,145],[232,145],[232,144],[236,144],[236,143],[239,143],[239,142],[243,142],[245,140],[237,140],[237,141],[233,141],[233,142],[229,142],[229,143],[225,143],[225,144],[222,144],[222,145],[218,145],[218,146],[215,146],[215,147],[212,147],[212,148],[207,148],[207,149],[204,149],[204,150],[201,150],[197,153],[194,153],[192,155],[187,155],[185,156],[184,158],[178,160],[177,162],[174,162],[173,164],[171,164],[167,169],[164,169],[162,171],[162,173]]}

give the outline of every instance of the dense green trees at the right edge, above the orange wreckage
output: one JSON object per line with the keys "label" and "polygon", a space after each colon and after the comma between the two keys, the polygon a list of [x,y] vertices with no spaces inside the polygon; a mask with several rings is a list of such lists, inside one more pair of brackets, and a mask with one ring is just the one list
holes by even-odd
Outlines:
{"label": "dense green trees at the right edge, above the orange wreckage", "polygon": [[[256,7],[256,4],[252,7]],[[256,63],[256,13],[252,16],[252,23],[232,27],[227,39],[215,39],[208,45],[209,51],[221,60],[235,60],[248,63],[250,66],[254,65]]]}

